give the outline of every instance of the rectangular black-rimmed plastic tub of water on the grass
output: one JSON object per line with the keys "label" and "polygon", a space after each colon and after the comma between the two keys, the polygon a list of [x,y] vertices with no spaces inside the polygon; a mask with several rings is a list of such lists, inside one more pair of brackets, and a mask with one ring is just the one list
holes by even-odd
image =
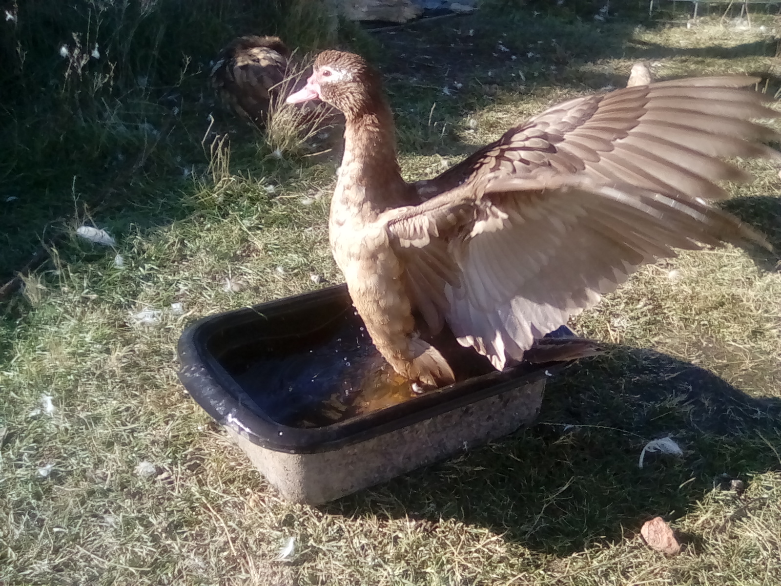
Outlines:
{"label": "rectangular black-rimmed plastic tub of water on the grass", "polygon": [[530,423],[562,366],[497,372],[448,332],[435,342],[462,382],[371,413],[346,407],[333,423],[306,416],[302,427],[301,413],[341,393],[348,360],[376,353],[337,285],[198,320],[180,338],[179,377],[285,498],[325,502]]}

